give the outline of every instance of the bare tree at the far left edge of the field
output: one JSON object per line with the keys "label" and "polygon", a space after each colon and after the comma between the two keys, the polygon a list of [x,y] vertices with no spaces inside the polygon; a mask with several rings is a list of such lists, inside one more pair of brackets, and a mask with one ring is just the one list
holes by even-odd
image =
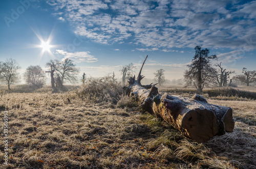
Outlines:
{"label": "bare tree at the far left edge of the field", "polygon": [[0,69],[0,79],[6,82],[6,84],[8,85],[8,90],[11,89],[11,84],[18,81],[18,69],[20,69],[18,63],[12,58],[7,59],[6,62],[2,63]]}

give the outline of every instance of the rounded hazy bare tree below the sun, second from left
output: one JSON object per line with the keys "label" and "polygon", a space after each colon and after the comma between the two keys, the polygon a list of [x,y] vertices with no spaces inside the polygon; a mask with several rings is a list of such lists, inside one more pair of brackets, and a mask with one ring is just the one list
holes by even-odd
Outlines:
{"label": "rounded hazy bare tree below the sun, second from left", "polygon": [[45,84],[46,75],[42,68],[37,66],[29,66],[24,73],[24,80],[26,83],[35,88],[40,88]]}

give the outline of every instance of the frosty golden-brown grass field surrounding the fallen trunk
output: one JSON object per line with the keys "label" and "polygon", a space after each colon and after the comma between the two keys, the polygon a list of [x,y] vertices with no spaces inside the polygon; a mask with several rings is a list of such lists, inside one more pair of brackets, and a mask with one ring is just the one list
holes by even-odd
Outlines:
{"label": "frosty golden-brown grass field surrounding the fallen trunk", "polygon": [[[127,96],[121,95],[119,102],[113,103],[106,96],[81,98],[75,90],[61,93],[41,90],[4,92],[0,96],[1,134],[3,111],[8,111],[10,164],[2,165],[4,138],[1,137],[1,167],[256,168],[254,99],[225,94],[211,97],[204,93],[209,103],[233,108],[236,124],[233,133],[196,143],[172,126],[143,114]],[[177,87],[161,90],[184,96],[193,94]],[[84,95],[85,91],[82,90]]]}

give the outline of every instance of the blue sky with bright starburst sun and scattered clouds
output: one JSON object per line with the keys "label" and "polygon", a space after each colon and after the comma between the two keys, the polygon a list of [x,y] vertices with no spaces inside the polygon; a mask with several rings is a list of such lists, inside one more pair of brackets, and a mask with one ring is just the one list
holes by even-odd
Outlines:
{"label": "blue sky with bright starburst sun and scattered clouds", "polygon": [[[256,1],[216,0],[2,0],[0,61],[15,59],[47,70],[51,59],[69,58],[87,76],[115,72],[133,63],[153,79],[183,77],[203,45],[227,70],[256,69]],[[49,50],[41,44],[48,42]]]}

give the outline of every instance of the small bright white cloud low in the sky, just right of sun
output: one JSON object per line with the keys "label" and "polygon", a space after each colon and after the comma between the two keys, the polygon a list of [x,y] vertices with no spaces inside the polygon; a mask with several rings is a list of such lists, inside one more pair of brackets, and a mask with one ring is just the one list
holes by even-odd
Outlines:
{"label": "small bright white cloud low in the sky, just right of sun", "polygon": [[63,55],[63,59],[65,60],[67,58],[73,60],[75,63],[80,63],[80,62],[97,62],[98,59],[95,58],[94,56],[90,55],[90,52],[74,52],[74,53],[69,53],[63,50],[56,50],[55,54]]}

